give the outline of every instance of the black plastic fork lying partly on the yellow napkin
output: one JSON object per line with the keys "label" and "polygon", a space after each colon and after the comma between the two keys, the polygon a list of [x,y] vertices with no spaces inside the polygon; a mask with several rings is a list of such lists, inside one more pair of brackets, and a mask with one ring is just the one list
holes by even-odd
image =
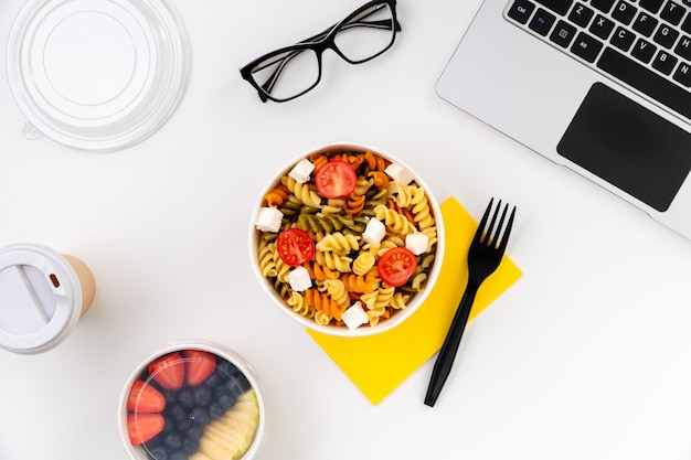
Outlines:
{"label": "black plastic fork lying partly on the yellow napkin", "polygon": [[458,351],[460,339],[466,329],[466,323],[468,322],[470,309],[472,308],[478,288],[487,277],[499,267],[507,248],[507,243],[509,242],[513,216],[515,215],[515,206],[511,210],[511,214],[504,227],[504,220],[509,210],[509,204],[507,203],[499,218],[499,224],[495,227],[501,208],[501,200],[499,200],[489,226],[487,226],[487,220],[491,213],[493,202],[495,199],[489,201],[482,220],[478,225],[478,229],[472,237],[472,243],[470,243],[470,249],[468,250],[468,285],[460,299],[444,344],[442,344],[437,361],[434,363],[432,378],[429,379],[427,395],[425,396],[425,404],[430,407],[437,402],[437,397],[439,393],[442,393],[442,388],[454,365],[456,352]]}

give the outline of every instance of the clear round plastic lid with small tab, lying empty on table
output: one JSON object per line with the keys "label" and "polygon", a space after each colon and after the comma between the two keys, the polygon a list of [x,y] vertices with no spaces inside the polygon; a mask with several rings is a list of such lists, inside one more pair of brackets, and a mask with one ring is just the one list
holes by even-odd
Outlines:
{"label": "clear round plastic lid with small tab, lying empty on table", "polygon": [[172,115],[189,53],[166,0],[29,0],[10,32],[8,81],[28,136],[111,151]]}

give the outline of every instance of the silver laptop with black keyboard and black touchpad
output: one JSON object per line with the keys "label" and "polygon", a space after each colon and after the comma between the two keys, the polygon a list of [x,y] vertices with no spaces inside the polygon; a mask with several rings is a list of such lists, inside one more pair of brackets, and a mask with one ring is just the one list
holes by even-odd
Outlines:
{"label": "silver laptop with black keyboard and black touchpad", "polygon": [[691,238],[691,1],[485,0],[436,92]]}

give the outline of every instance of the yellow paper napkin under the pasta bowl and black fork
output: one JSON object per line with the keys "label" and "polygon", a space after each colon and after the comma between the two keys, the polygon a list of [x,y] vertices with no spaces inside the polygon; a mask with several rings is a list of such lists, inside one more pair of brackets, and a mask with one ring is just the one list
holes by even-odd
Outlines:
{"label": "yellow paper napkin under the pasta bowl and black fork", "polygon": [[[446,249],[439,278],[419,309],[396,328],[362,338],[307,332],[376,405],[440,347],[466,288],[468,247],[477,222],[454,197],[442,204]],[[521,276],[504,255],[501,265],[478,290],[469,320]]]}

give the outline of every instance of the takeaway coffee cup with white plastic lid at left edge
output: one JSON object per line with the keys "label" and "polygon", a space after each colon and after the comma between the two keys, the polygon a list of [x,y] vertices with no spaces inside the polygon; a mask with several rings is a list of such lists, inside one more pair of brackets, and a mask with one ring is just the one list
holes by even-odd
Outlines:
{"label": "takeaway coffee cup with white plastic lid at left edge", "polygon": [[38,244],[0,248],[0,347],[21,354],[55,347],[94,295],[91,270],[74,256]]}

